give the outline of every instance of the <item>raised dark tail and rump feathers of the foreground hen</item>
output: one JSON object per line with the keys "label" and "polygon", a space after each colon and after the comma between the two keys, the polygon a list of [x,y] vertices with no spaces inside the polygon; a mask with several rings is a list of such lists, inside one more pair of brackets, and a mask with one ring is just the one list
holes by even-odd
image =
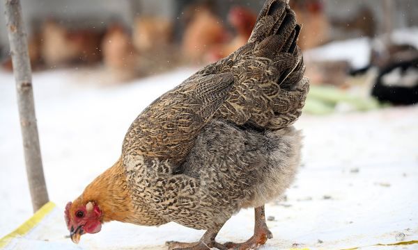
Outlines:
{"label": "raised dark tail and rump feathers of the foreground hen", "polygon": [[219,117],[269,129],[296,121],[309,91],[297,47],[300,28],[286,1],[266,1],[249,43],[222,61],[221,67],[212,66],[219,72],[231,70],[234,77],[229,99],[217,112]]}

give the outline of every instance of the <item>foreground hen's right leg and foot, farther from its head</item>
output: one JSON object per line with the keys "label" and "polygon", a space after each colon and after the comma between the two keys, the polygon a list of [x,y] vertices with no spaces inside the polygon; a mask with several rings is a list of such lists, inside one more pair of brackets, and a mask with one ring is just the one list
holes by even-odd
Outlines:
{"label": "foreground hen's right leg and foot, farther from its head", "polygon": [[247,250],[256,249],[260,245],[264,244],[268,239],[273,238],[272,232],[268,230],[267,224],[265,224],[265,210],[264,206],[254,208],[255,225],[254,235],[243,243],[226,242],[224,247],[226,249],[234,250]]}

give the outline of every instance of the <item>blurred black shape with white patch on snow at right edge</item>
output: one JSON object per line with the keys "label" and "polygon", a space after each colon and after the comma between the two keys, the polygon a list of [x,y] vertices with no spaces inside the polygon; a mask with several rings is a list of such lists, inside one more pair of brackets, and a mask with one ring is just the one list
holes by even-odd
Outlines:
{"label": "blurred black shape with white patch on snow at right edge", "polygon": [[398,105],[418,103],[418,57],[381,69],[371,95]]}

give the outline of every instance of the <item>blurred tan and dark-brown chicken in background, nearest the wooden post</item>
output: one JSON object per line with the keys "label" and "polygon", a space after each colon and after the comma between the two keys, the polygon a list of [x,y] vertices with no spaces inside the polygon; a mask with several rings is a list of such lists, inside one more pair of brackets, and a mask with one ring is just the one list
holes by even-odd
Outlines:
{"label": "blurred tan and dark-brown chicken in background, nearest the wooden post", "polygon": [[102,58],[101,40],[102,33],[92,28],[70,30],[49,20],[42,25],[42,58],[48,67],[97,63]]}

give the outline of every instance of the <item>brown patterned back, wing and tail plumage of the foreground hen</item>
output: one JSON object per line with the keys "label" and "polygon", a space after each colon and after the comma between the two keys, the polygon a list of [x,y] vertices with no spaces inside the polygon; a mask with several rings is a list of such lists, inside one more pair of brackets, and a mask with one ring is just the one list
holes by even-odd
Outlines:
{"label": "brown patterned back, wing and tail plumage of the foreground hen", "polygon": [[284,1],[268,1],[244,47],[196,72],[135,119],[123,153],[181,163],[212,119],[271,129],[293,124],[309,88],[299,31]]}

